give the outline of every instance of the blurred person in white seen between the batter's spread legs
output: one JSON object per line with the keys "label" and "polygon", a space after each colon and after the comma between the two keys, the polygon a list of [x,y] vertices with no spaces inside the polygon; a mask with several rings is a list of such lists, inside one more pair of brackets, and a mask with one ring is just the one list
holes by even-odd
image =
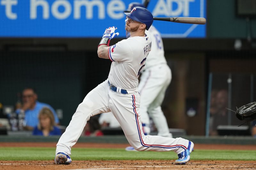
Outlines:
{"label": "blurred person in white seen between the batter's spread legs", "polygon": [[102,113],[100,114],[99,122],[102,128],[110,127],[110,128],[119,128],[120,124],[116,120],[115,116],[111,113]]}

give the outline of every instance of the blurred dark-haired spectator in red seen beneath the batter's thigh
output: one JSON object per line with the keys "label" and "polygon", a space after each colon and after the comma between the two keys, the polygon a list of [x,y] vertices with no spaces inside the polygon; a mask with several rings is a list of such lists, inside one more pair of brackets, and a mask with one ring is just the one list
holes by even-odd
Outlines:
{"label": "blurred dark-haired spectator in red seen beneath the batter's thigh", "polygon": [[103,136],[97,116],[92,116],[84,127],[85,136]]}

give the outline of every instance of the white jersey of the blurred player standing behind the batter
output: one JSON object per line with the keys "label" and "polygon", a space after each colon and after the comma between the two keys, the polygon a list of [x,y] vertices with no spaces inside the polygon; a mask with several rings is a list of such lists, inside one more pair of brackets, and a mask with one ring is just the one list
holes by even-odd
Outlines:
{"label": "white jersey of the blurred player standing behind the batter", "polygon": [[164,57],[164,46],[160,33],[154,26],[150,26],[145,33],[151,35],[152,48],[147,57],[147,64],[142,70],[158,64],[167,63]]}

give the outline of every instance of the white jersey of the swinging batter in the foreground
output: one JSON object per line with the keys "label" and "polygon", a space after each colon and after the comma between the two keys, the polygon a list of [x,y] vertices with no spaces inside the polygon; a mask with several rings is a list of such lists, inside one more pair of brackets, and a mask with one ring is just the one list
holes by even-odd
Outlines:
{"label": "white jersey of the swinging batter in the foreground", "polygon": [[136,89],[139,84],[138,76],[150,50],[149,35],[130,37],[110,46],[108,55],[113,63],[108,75],[109,82],[122,89]]}

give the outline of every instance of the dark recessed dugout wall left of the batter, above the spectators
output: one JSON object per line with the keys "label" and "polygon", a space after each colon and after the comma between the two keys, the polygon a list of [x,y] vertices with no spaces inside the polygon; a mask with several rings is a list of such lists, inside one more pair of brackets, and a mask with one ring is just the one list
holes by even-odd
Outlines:
{"label": "dark recessed dugout wall left of the batter, above the spectators", "polygon": [[0,52],[0,103],[15,105],[17,93],[33,87],[38,101],[63,110],[68,125],[85,95],[108,76],[110,61],[90,52]]}

